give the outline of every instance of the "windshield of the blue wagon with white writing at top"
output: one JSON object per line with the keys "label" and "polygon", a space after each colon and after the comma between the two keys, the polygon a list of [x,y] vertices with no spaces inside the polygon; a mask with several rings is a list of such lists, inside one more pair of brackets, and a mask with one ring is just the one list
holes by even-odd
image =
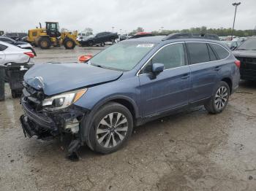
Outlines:
{"label": "windshield of the blue wagon with white writing at top", "polygon": [[90,63],[102,68],[129,71],[154,45],[148,42],[119,42],[95,55]]}

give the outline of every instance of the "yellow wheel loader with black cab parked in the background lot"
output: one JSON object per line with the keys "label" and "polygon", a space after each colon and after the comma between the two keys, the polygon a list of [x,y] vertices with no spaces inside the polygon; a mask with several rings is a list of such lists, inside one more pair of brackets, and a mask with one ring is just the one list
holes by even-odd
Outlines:
{"label": "yellow wheel loader with black cab parked in the background lot", "polygon": [[79,45],[76,40],[78,31],[73,33],[69,31],[59,31],[59,23],[57,22],[45,22],[45,28],[34,28],[29,30],[29,36],[27,41],[36,47],[42,49],[49,49],[51,46],[60,47],[62,44],[66,49],[73,49],[75,45]]}

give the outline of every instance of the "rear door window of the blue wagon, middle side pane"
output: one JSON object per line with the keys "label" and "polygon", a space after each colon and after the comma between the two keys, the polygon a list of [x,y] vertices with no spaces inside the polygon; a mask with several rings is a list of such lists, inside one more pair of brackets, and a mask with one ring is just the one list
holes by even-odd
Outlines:
{"label": "rear door window of the blue wagon, middle side pane", "polygon": [[191,64],[205,63],[210,61],[206,43],[188,42],[187,48]]}

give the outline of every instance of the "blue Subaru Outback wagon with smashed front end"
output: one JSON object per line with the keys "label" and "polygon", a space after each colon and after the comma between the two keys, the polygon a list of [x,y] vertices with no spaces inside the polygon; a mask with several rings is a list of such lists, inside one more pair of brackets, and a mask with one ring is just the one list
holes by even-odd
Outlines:
{"label": "blue Subaru Outback wagon with smashed front end", "polygon": [[25,136],[72,133],[69,152],[124,145],[132,128],[187,106],[222,112],[238,87],[240,62],[207,39],[129,39],[86,63],[45,63],[24,76],[20,117]]}

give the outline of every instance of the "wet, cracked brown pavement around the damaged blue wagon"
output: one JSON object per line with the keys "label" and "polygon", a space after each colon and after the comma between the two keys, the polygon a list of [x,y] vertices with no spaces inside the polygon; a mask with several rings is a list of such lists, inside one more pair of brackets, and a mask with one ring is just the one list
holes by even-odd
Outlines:
{"label": "wet, cracked brown pavement around the damaged blue wagon", "polygon": [[[75,61],[75,50],[37,50],[36,62]],[[71,51],[71,52],[69,52]],[[0,190],[256,190],[256,83],[242,81],[222,114],[196,107],[135,128],[110,155],[68,141],[24,138],[19,99],[0,102]]]}

